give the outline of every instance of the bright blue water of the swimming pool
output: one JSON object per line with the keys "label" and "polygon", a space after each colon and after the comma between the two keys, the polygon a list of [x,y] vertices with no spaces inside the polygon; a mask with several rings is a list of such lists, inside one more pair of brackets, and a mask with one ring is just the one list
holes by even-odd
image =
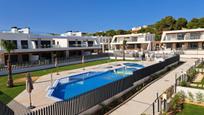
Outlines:
{"label": "bright blue water of the swimming pool", "polygon": [[131,75],[133,71],[144,67],[142,65],[133,63],[124,63],[124,65],[126,65],[126,67],[121,67],[106,72],[91,71],[62,78],[58,81],[50,96],[60,100],[67,100],[74,96],[127,77]]}

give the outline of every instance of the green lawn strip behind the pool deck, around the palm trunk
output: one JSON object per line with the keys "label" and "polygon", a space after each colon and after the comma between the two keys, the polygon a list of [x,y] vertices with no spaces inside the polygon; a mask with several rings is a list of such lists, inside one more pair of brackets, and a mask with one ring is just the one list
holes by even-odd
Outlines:
{"label": "green lawn strip behind the pool deck, around the palm trunk", "polygon": [[[87,62],[84,64],[67,65],[67,66],[62,66],[58,68],[33,71],[31,72],[31,75],[35,77],[40,77],[42,75],[56,72],[57,70],[58,71],[73,70],[77,68],[104,64],[104,63],[109,63],[114,61],[115,60],[99,60],[99,61]],[[19,74],[13,75],[14,81],[19,78],[25,78],[25,77],[26,77],[26,73],[19,73]],[[13,88],[7,88],[6,83],[7,83],[7,76],[0,76],[0,101],[5,104],[9,103],[13,98],[15,98],[19,93],[21,93],[25,89],[25,81],[15,83],[15,86]]]}

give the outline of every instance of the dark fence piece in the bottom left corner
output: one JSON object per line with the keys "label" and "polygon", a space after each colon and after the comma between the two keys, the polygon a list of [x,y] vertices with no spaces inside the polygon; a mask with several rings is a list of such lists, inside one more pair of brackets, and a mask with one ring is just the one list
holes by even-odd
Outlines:
{"label": "dark fence piece in the bottom left corner", "polygon": [[7,105],[0,102],[0,115],[14,115],[14,112]]}

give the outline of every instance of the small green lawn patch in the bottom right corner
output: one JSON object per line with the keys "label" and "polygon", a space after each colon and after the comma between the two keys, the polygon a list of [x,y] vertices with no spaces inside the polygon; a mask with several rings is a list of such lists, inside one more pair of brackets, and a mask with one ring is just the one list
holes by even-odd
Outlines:
{"label": "small green lawn patch in the bottom right corner", "polygon": [[204,115],[204,107],[192,104],[184,104],[183,111],[177,113],[176,115]]}

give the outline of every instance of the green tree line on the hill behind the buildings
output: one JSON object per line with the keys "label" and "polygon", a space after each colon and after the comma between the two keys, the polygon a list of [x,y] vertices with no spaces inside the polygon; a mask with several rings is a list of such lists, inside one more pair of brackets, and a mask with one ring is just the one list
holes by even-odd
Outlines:
{"label": "green tree line on the hill behind the buildings", "polygon": [[[161,34],[163,31],[169,30],[181,30],[181,29],[195,29],[195,28],[204,28],[204,17],[202,18],[193,18],[188,21],[186,18],[177,18],[173,16],[166,16],[161,20],[157,21],[154,24],[148,25],[145,28],[141,28],[138,33],[152,33],[155,34],[155,40],[159,41],[161,39]],[[95,32],[94,36],[114,36],[114,35],[123,35],[130,34],[131,30],[108,30],[104,32]]]}

